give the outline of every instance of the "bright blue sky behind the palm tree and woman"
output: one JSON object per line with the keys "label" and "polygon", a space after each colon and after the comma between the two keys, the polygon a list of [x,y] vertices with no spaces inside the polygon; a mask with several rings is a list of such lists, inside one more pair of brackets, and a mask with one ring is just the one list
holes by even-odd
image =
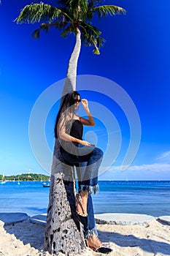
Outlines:
{"label": "bright blue sky behind the palm tree and woman", "polygon": [[[65,78],[74,47],[72,35],[63,39],[52,29],[36,40],[31,38],[31,33],[38,24],[14,23],[20,10],[30,3],[28,0],[2,1],[0,6],[0,173],[5,175],[28,171],[46,174],[49,171],[39,165],[31,151],[29,118],[36,99],[49,86]],[[122,0],[112,1],[112,4],[124,7],[127,14],[94,20],[106,43],[100,56],[93,55],[92,48],[82,46],[77,75],[101,76],[123,88],[139,113],[142,137],[131,166],[125,171],[120,170],[130,138],[127,117],[120,106],[105,95],[82,91],[82,97],[92,101],[91,106],[97,102],[111,111],[121,131],[120,152],[100,178],[170,180],[170,3],[169,0],[163,3],[139,0],[134,4],[132,0]],[[58,93],[56,91],[56,98]],[[56,112],[57,104],[47,116],[45,129],[51,151]],[[89,139],[94,139],[94,134],[89,132],[95,132],[97,146],[105,151],[107,128],[101,124],[101,119],[96,118],[96,127],[85,129],[85,133],[88,132]]]}

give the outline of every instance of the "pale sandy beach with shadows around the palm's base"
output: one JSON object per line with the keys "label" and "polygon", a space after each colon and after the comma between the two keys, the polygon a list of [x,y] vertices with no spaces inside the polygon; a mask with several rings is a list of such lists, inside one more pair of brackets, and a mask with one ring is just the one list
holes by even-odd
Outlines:
{"label": "pale sandy beach with shadows around the palm's base", "polygon": [[[141,225],[97,224],[98,237],[113,251],[110,256],[170,255],[170,225],[153,219],[148,227]],[[30,219],[15,224],[0,222],[0,256],[50,256],[43,249],[45,225]],[[63,254],[60,254],[63,255]],[[102,255],[85,249],[85,255]]]}

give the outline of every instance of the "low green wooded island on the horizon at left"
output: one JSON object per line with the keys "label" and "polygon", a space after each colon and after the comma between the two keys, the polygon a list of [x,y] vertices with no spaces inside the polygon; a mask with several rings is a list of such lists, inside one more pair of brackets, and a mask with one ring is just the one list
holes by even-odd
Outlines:
{"label": "low green wooded island on the horizon at left", "polygon": [[18,175],[4,176],[0,174],[0,181],[48,181],[50,176],[36,173],[22,173]]}

